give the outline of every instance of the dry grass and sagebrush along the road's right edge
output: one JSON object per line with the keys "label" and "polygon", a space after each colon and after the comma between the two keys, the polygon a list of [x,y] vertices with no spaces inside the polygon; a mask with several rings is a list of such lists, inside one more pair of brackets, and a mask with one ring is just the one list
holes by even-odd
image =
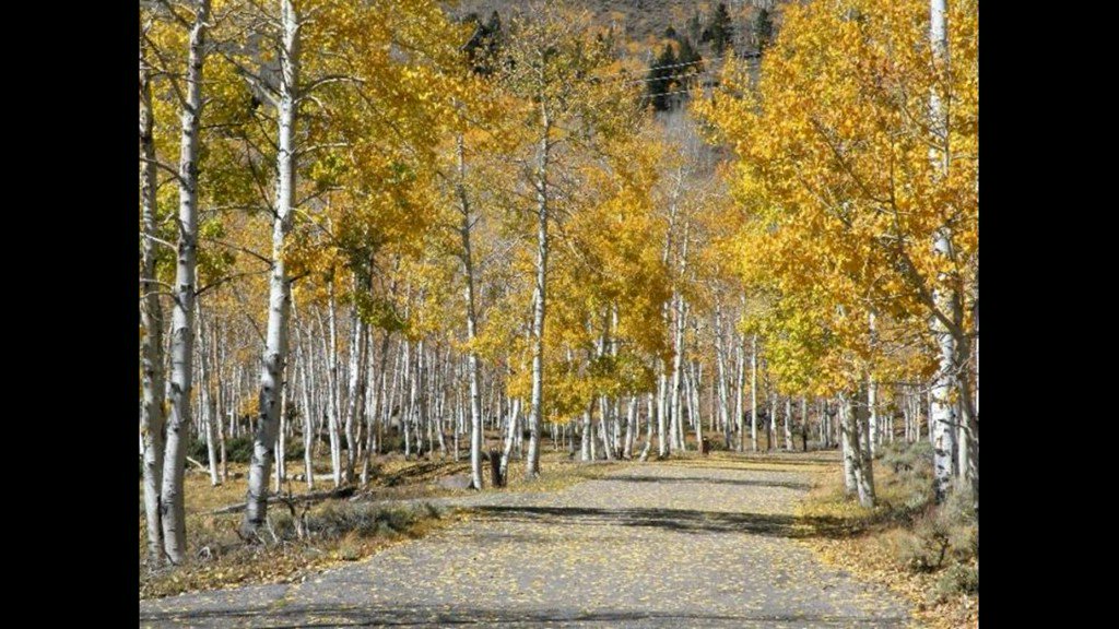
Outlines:
{"label": "dry grass and sagebrush along the road's right edge", "polygon": [[798,509],[815,529],[801,543],[827,563],[904,594],[919,627],[978,627],[979,523],[968,492],[932,504],[927,442],[886,448],[874,477],[877,505],[864,509],[844,495],[841,468],[819,472]]}

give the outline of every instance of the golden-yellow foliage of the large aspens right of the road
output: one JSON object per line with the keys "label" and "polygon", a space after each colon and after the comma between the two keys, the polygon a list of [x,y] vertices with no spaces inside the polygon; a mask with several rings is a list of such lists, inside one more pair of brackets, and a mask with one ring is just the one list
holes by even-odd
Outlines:
{"label": "golden-yellow foliage of the large aspens right of the road", "polygon": [[[933,295],[955,291],[965,317],[977,298],[978,3],[950,3],[950,66],[934,62],[928,12],[919,0],[789,6],[756,85],[727,63],[721,92],[696,105],[739,158],[739,271],[784,389],[928,374]],[[935,122],[931,94],[951,103]],[[938,234],[949,255],[933,251]]]}

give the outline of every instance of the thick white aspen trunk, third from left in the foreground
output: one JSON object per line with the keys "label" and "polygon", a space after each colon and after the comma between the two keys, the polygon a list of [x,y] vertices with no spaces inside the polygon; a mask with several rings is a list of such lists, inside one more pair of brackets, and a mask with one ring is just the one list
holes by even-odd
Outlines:
{"label": "thick white aspen trunk, third from left in the foreground", "polygon": [[255,536],[267,515],[267,481],[280,424],[284,366],[288,360],[288,319],[291,316],[291,280],[285,244],[291,229],[295,194],[295,107],[299,81],[300,22],[292,0],[280,0],[283,41],[280,46],[280,107],[278,114],[276,199],[272,222],[272,273],[269,278],[269,320],[261,360],[260,407],[253,457],[248,466],[248,491],[242,535]]}

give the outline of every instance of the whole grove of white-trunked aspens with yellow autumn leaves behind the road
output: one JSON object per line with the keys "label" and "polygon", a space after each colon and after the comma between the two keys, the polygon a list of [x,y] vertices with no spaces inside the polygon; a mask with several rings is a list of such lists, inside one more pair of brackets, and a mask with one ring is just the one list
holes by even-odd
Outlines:
{"label": "whole grove of white-trunked aspens with yellow autumn leaves behind the road", "polygon": [[837,450],[871,509],[927,441],[977,517],[978,0],[711,3],[643,48],[520,4],[140,2],[147,564],[199,552],[190,466],[246,544],[393,457],[488,491]]}

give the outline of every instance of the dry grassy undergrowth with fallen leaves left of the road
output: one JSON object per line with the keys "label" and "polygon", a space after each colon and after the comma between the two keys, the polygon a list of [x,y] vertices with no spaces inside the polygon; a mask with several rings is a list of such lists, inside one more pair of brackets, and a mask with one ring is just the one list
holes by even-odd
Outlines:
{"label": "dry grassy undergrowth with fallen leaves left of the road", "polygon": [[[289,461],[289,470],[302,469]],[[318,467],[318,462],[317,462]],[[526,480],[524,461],[509,462],[508,486],[491,487],[488,464],[483,491],[556,491],[613,469],[612,463],[585,464],[572,461],[566,452],[542,452],[540,477]],[[147,556],[143,489],[140,488],[140,598],[161,598],[185,592],[217,590],[260,583],[294,583],[309,574],[346,561],[358,561],[382,548],[426,535],[464,517],[458,509],[438,509],[425,498],[466,496],[470,489],[450,489],[439,484],[449,476],[469,473],[464,460],[451,458],[405,460],[402,456],[380,457],[370,467],[369,482],[350,499],[330,499],[307,508],[298,503],[269,505],[269,526],[258,539],[246,543],[237,534],[242,514],[213,511],[244,501],[247,490],[245,466],[232,463],[229,478],[211,487],[209,476],[188,469],[185,497],[187,508],[187,562],[177,567],[151,570]],[[329,475],[317,475],[316,489],[332,486]],[[292,481],[298,498],[307,487]],[[407,506],[386,506],[385,500],[410,500]],[[417,504],[416,500],[420,500]],[[369,503],[376,501],[377,505]]]}

